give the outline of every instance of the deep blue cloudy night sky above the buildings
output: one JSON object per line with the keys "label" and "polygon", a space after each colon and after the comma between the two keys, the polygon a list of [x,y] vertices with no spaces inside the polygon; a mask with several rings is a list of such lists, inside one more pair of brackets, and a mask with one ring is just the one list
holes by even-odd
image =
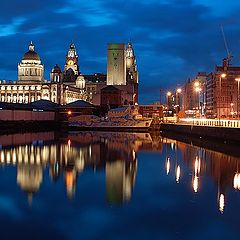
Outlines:
{"label": "deep blue cloudy night sky above the buildings", "polygon": [[226,57],[240,63],[238,0],[11,0],[0,8],[0,79],[17,79],[17,64],[32,40],[45,78],[63,68],[71,40],[83,74],[106,72],[107,44],[132,40],[140,102],[159,100],[160,87],[181,86]]}

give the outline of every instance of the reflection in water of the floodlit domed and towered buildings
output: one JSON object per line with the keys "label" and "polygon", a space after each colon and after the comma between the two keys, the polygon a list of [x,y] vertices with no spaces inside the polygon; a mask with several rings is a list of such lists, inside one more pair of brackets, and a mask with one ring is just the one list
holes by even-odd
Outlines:
{"label": "reflection in water of the floodlit domed and towered buildings", "polygon": [[29,203],[47,176],[44,172],[49,172],[53,182],[63,179],[71,199],[85,169],[105,171],[109,204],[129,201],[136,181],[137,152],[162,152],[161,139],[146,133],[73,133],[58,142],[52,132],[38,137],[16,134],[7,143],[0,149],[0,164],[16,166],[17,184],[27,193]]}

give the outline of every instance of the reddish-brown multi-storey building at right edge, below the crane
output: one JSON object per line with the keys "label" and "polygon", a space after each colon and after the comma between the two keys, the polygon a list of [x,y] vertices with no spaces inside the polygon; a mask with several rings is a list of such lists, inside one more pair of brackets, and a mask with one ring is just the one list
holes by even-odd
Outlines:
{"label": "reddish-brown multi-storey building at right edge, below the crane", "polygon": [[223,59],[222,66],[207,78],[206,116],[209,118],[235,118],[239,115],[239,79],[240,67],[231,66]]}

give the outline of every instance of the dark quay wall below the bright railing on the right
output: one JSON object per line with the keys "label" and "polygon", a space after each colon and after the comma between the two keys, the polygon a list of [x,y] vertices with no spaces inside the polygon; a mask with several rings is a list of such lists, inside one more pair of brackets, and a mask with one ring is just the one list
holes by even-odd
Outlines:
{"label": "dark quay wall below the bright railing on the right", "polygon": [[162,123],[160,131],[223,141],[240,141],[240,128]]}

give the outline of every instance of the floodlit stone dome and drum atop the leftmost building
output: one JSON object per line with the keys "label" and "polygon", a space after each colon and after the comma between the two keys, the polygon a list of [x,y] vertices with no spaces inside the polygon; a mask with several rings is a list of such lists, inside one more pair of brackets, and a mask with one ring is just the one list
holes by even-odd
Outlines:
{"label": "floodlit stone dome and drum atop the leftmost building", "polygon": [[34,50],[33,42],[18,64],[18,81],[22,83],[42,83],[44,81],[44,66],[39,55]]}

